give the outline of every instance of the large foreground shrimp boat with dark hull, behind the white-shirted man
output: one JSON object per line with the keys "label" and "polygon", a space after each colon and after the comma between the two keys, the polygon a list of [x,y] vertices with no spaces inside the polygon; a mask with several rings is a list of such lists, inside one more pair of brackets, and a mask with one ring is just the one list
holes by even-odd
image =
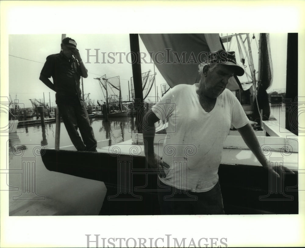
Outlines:
{"label": "large foreground shrimp boat with dark hull, behind the white-shirted man", "polygon": [[[190,54],[194,54],[196,58],[196,55],[202,51],[210,52],[224,48],[218,34],[141,34],[140,37],[149,52],[172,47],[173,51],[179,54],[179,52],[186,51],[187,47]],[[229,37],[227,37],[228,39]],[[260,36],[260,42],[266,39],[268,40],[267,34],[265,37],[264,34]],[[139,52],[138,34],[130,34],[130,42],[131,52],[137,54]],[[268,45],[268,41],[265,44]],[[264,49],[260,44],[261,46]],[[290,50],[289,47],[297,47],[297,37],[290,34],[288,35],[287,78],[295,73],[291,70],[297,68],[297,60],[294,59],[294,53],[297,51]],[[264,54],[266,55],[266,51]],[[135,58],[132,60],[139,59]],[[263,58],[261,61],[266,62]],[[197,65],[192,63],[171,65],[156,63],[156,66],[170,87],[178,83],[193,84],[198,80]],[[264,68],[264,65],[260,64],[260,66]],[[138,130],[141,131],[141,113],[143,113],[141,111],[144,109],[141,104],[143,102],[141,65],[134,63],[132,69],[135,99],[139,102],[135,102],[135,107],[138,107],[138,113],[140,113],[137,116],[140,127]],[[252,92],[248,91],[251,96],[256,96],[252,105],[255,101],[260,104],[260,101],[257,100],[257,86],[259,89],[267,89],[261,84],[257,85],[255,72],[253,73],[254,75],[251,75],[253,87],[250,86]],[[262,73],[260,74],[262,75]],[[295,82],[297,82],[297,78],[293,79],[296,79]],[[262,79],[258,80],[258,82],[261,81]],[[293,87],[295,86],[292,85]],[[243,87],[235,77],[229,82],[228,88],[235,91],[235,96],[238,97]],[[294,99],[296,96],[297,90],[290,90],[288,97]],[[268,173],[264,172],[263,167],[249,151],[242,137],[235,130],[230,130],[218,170],[225,212],[226,214],[297,214],[299,212],[298,136],[295,134],[295,130],[292,132],[291,129],[289,131],[272,124],[272,121],[263,120],[263,117],[267,116],[268,110],[260,108],[263,111],[257,111],[259,117],[253,119],[253,127],[257,129],[259,125],[259,129],[262,129],[257,130],[256,134],[260,144],[263,144],[265,155],[269,156],[270,162],[284,165],[292,169],[294,174],[285,174],[285,180],[271,185]],[[260,108],[258,109],[260,110]],[[249,106],[245,106],[244,110],[246,114],[255,117],[255,111],[251,110]],[[42,161],[50,171],[104,182],[107,193],[100,215],[158,215],[160,210],[156,190],[157,172],[149,169],[146,164],[143,137],[140,131],[134,134],[131,140],[119,144],[113,144],[112,140],[100,141],[98,142],[98,152],[79,152],[75,151],[73,146],[62,149],[42,149]],[[161,124],[156,129],[154,140],[155,149],[161,152],[165,133],[166,124]]]}

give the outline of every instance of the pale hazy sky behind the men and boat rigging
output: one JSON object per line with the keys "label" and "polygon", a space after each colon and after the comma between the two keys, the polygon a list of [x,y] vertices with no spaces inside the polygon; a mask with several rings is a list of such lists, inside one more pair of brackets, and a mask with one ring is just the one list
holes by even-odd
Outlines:
{"label": "pale hazy sky behind the men and boat rigging", "polygon": [[[226,35],[226,34],[222,34]],[[107,78],[120,77],[123,101],[128,100],[128,83],[131,84],[132,69],[129,45],[129,34],[74,34],[66,33],[66,37],[71,37],[77,42],[82,60],[88,70],[88,78],[83,79],[84,94],[89,94],[89,99],[95,104],[97,100],[103,100],[98,80],[106,74]],[[250,38],[252,33],[250,33]],[[256,40],[251,39],[254,65],[258,66],[258,40],[259,34],[255,34]],[[29,99],[42,100],[55,106],[55,92],[50,90],[39,80],[39,74],[49,54],[59,53],[61,34],[11,34],[9,39],[9,95],[12,100],[17,99],[25,107],[31,107]],[[237,62],[239,63],[239,53],[237,43],[233,39],[230,50],[236,51]],[[153,63],[150,61],[149,54],[142,43],[140,51],[145,53],[145,63],[142,61],[142,73],[149,70],[156,75],[156,86],[158,94],[161,95],[160,85],[166,83]],[[252,43],[253,42],[253,43]],[[273,84],[268,92],[274,89],[284,89],[286,84],[286,50],[287,33],[270,33],[271,58],[273,63]],[[227,44],[224,44],[225,47]],[[227,48],[227,47],[226,47]],[[98,57],[94,57],[98,52]],[[278,52],[281,51],[281,52]],[[103,53],[105,53],[103,57]],[[114,54],[116,53],[116,55]],[[245,55],[245,54],[244,54]],[[109,57],[110,56],[110,57]],[[114,59],[112,59],[113,57]],[[99,63],[96,63],[96,62]],[[248,70],[248,69],[246,69]],[[248,71],[249,73],[249,71]],[[246,76],[240,78],[241,82],[248,81]],[[130,86],[131,87],[131,86]],[[116,93],[116,92],[114,92]],[[114,94],[110,93],[110,94]],[[149,96],[155,96],[152,89]],[[85,98],[87,95],[84,96]]]}

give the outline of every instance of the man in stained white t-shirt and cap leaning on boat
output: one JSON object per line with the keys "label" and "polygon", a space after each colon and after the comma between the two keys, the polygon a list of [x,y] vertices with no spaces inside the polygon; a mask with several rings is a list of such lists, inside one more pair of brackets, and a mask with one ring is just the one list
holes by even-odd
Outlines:
{"label": "man in stained white t-shirt and cap leaning on boat", "polygon": [[[218,50],[206,62],[199,65],[198,84],[178,84],[145,115],[145,156],[149,166],[160,171],[162,214],[224,214],[217,172],[231,124],[259,162],[279,176],[260,153],[241,104],[226,89],[230,77],[244,74],[236,64],[235,52]],[[161,159],[159,151],[154,151],[154,124],[167,118]]]}

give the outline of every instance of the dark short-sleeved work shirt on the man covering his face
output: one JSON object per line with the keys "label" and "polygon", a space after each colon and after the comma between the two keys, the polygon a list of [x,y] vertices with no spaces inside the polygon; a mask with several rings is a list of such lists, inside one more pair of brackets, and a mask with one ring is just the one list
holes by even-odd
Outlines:
{"label": "dark short-sleeved work shirt on the man covering his face", "polygon": [[41,73],[45,77],[52,76],[56,92],[56,104],[84,104],[81,97],[81,68],[75,58],[66,58],[61,51],[47,57]]}

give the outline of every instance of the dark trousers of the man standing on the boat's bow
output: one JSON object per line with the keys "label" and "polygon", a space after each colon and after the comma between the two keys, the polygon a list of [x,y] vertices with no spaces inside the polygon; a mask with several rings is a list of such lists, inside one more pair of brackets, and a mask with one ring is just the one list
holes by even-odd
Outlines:
{"label": "dark trousers of the man standing on the boat's bow", "polygon": [[[77,151],[96,152],[96,140],[85,106],[58,104],[58,109],[63,118],[63,123],[65,124],[69,137]],[[81,137],[78,134],[78,128]]]}

